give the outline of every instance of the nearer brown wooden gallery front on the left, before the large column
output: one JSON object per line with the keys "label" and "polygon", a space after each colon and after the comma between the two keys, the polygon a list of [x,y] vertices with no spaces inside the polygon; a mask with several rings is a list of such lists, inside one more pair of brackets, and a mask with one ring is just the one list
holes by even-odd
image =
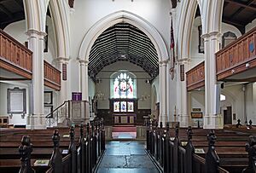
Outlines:
{"label": "nearer brown wooden gallery front on the left, before the large column", "polygon": [[32,51],[0,29],[0,67],[32,78]]}

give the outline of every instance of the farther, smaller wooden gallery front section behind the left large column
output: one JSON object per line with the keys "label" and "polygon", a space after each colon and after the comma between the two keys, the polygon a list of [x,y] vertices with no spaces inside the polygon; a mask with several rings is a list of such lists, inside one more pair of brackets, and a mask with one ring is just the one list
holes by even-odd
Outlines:
{"label": "farther, smaller wooden gallery front section behind the left large column", "polygon": [[47,61],[44,61],[44,85],[56,90],[61,89],[61,72]]}

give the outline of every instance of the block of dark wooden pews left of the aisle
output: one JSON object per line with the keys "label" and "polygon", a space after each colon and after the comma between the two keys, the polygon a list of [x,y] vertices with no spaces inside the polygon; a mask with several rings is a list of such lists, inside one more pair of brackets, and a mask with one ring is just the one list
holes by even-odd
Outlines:
{"label": "block of dark wooden pews left of the aisle", "polygon": [[[79,133],[75,133],[75,131],[80,130],[80,136]],[[13,134],[10,134],[8,130],[5,130],[2,136],[0,136],[0,139],[4,139],[3,141],[0,141],[0,170],[2,172],[18,172],[20,169],[25,169],[23,162],[21,163],[20,168],[20,151],[18,151],[17,147],[17,136],[20,136],[20,132],[17,132],[16,130],[11,130],[14,132]],[[62,130],[64,134],[67,135],[67,129]],[[60,172],[92,172],[93,169],[95,169],[97,162],[99,161],[99,158],[102,156],[103,151],[105,150],[105,136],[104,136],[104,130],[103,130],[103,124],[102,121],[94,121],[91,122],[91,126],[87,127],[86,135],[84,136],[84,130],[83,126],[80,127],[80,129],[71,129],[69,136],[70,141],[68,138],[62,138],[59,135],[59,130],[55,130],[54,136],[52,137],[54,142],[50,142],[50,135],[49,132],[52,133],[51,130],[23,130],[23,133],[27,132],[32,137],[29,137],[29,141],[32,140],[38,140],[38,141],[32,141],[32,145],[30,142],[26,142],[26,145],[24,142],[22,143],[23,147],[26,146],[32,146],[32,152],[30,152],[26,156],[22,156],[21,160],[30,160],[31,163],[26,164],[32,164],[32,169],[36,170],[37,172],[51,172],[55,170],[53,160],[55,159],[55,151],[59,151],[61,155],[61,168],[63,168],[63,171]],[[38,133],[35,133],[38,132]],[[42,136],[42,133],[44,134]],[[25,135],[25,133],[23,134]],[[56,137],[59,136],[59,137]],[[7,139],[7,137],[9,137]],[[56,139],[57,138],[57,139]],[[10,141],[9,141],[10,140]],[[91,142],[90,142],[91,140]],[[20,140],[19,140],[20,141]],[[84,144],[81,143],[81,141],[84,141]],[[6,142],[9,142],[9,146],[6,145]],[[61,143],[64,143],[61,144]],[[90,145],[88,145],[90,143]],[[36,144],[36,145],[34,145]],[[81,146],[84,145],[84,148],[86,149],[86,152],[88,153],[85,157],[84,152],[81,153]],[[86,147],[87,145],[87,147]],[[21,148],[23,148],[21,147]],[[52,147],[54,147],[54,152],[52,151]],[[56,149],[57,148],[57,149]],[[63,150],[67,150],[67,153],[62,154]],[[85,150],[83,150],[85,151]],[[24,153],[24,152],[23,152]],[[26,152],[28,153],[28,152]],[[91,155],[89,155],[89,153]],[[78,156],[83,156],[84,159],[81,160],[78,159]],[[94,162],[90,162],[90,159],[94,158]],[[40,159],[48,159],[50,160],[49,165],[46,166],[34,166],[33,163],[36,160]],[[69,163],[69,164],[68,164]],[[25,164],[24,164],[25,165]],[[70,166],[69,166],[70,165]],[[60,167],[60,165],[58,165]],[[83,170],[82,170],[83,168]],[[30,168],[29,168],[30,169]],[[87,169],[86,171],[84,171]],[[58,171],[55,171],[58,172]]]}

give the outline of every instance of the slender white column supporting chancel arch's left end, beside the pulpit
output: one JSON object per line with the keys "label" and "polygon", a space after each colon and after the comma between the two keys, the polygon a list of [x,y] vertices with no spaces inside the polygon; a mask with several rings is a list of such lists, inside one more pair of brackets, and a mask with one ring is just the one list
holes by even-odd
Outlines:
{"label": "slender white column supporting chancel arch's left end, beside the pulpit", "polygon": [[80,60],[80,87],[82,92],[82,100],[88,101],[87,107],[85,108],[85,123],[89,122],[89,95],[88,95],[88,64],[89,61]]}

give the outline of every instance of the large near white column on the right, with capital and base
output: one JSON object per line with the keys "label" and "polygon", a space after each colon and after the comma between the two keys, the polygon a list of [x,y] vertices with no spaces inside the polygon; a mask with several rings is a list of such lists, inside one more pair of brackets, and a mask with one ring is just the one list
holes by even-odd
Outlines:
{"label": "large near white column on the right, with capital and base", "polygon": [[219,114],[219,90],[216,78],[215,53],[219,49],[220,32],[204,34],[205,45],[205,129],[223,128],[223,118]]}

